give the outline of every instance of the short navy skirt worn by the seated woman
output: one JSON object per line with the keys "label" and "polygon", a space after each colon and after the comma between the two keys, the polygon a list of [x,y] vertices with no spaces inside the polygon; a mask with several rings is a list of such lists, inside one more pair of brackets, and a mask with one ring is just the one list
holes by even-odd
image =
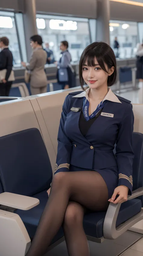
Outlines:
{"label": "short navy skirt worn by the seated woman", "polygon": [[118,167],[112,166],[110,168],[104,169],[83,169],[77,166],[70,165],[70,172],[78,172],[78,171],[95,171],[98,172],[102,178],[104,179],[106,186],[108,188],[108,199],[110,199],[113,195],[114,189],[118,186]]}

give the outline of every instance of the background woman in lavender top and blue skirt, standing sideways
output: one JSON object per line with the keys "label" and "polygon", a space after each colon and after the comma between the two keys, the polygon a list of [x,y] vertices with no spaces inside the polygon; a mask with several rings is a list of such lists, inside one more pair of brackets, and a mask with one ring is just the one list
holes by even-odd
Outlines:
{"label": "background woman in lavender top and blue skirt, standing sideways", "polygon": [[73,73],[70,68],[71,54],[68,52],[68,42],[62,41],[60,44],[60,50],[62,51],[62,57],[57,63],[57,79],[58,83],[61,84],[62,90],[72,87]]}

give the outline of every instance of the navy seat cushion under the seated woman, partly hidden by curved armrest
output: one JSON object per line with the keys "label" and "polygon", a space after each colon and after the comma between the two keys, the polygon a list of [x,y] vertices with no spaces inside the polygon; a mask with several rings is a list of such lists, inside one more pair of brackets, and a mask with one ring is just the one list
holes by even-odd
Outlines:
{"label": "navy seat cushion under the seated woman, partly hidden by curved armrest", "polygon": [[[141,200],[132,199],[121,204],[119,214],[116,221],[116,227],[133,217],[141,211]],[[103,237],[103,223],[106,212],[90,212],[84,216],[84,230],[86,235],[91,237]]]}

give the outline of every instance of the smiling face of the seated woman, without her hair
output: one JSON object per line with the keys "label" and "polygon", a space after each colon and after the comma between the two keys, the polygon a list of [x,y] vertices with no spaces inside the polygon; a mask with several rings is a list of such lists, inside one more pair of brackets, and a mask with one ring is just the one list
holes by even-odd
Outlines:
{"label": "smiling face of the seated woman, without her hair", "polygon": [[82,67],[82,77],[90,88],[98,89],[102,86],[107,86],[108,77],[114,72],[114,67],[109,69],[105,63],[104,65],[107,72],[100,67],[96,58],[94,58],[94,66],[89,66],[87,60],[85,61]]}

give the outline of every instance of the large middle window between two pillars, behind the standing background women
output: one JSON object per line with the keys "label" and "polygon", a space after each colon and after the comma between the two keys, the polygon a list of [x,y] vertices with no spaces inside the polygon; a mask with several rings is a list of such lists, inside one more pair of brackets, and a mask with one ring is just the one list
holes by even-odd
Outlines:
{"label": "large middle window between two pillars, behind the standing background women", "polygon": [[88,19],[38,14],[37,29],[44,46],[49,43],[55,60],[59,60],[61,41],[68,41],[72,62],[78,62],[85,47],[91,43]]}

